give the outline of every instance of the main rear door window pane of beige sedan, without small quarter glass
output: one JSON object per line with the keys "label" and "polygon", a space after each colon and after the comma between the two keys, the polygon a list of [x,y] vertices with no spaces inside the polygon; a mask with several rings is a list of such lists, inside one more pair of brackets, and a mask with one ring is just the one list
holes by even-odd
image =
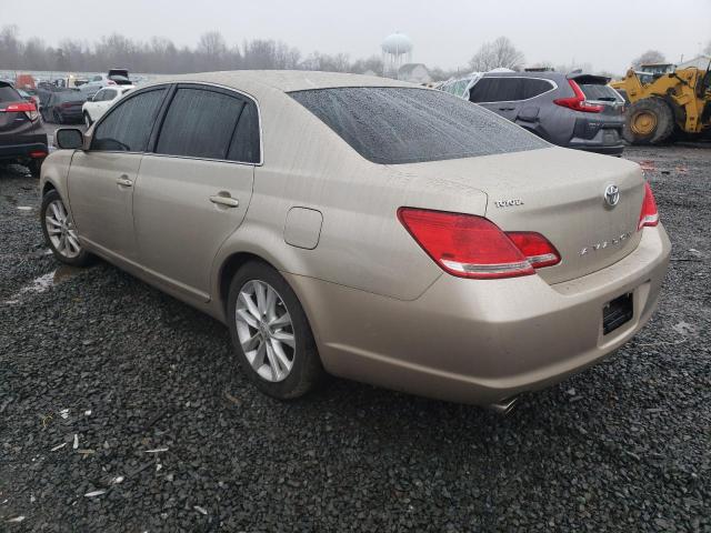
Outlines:
{"label": "main rear door window pane of beige sedan, without small quarter glass", "polygon": [[178,89],[166,113],[156,153],[227,159],[244,102],[204,89]]}

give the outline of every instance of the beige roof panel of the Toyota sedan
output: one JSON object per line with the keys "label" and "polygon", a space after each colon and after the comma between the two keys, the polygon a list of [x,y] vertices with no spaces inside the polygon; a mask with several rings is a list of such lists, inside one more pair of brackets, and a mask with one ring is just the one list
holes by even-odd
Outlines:
{"label": "beige roof panel of the Toyota sedan", "polygon": [[276,89],[282,92],[337,87],[417,87],[413,83],[379,78],[377,76],[344,74],[340,72],[316,72],[309,70],[236,70],[223,72],[199,72],[194,74],[164,76],[150,84],[169,82],[203,82],[233,89]]}

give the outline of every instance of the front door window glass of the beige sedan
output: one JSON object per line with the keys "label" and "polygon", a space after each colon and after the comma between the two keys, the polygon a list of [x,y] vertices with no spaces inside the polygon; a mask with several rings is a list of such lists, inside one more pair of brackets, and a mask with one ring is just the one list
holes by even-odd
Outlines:
{"label": "front door window glass of the beige sedan", "polygon": [[166,89],[154,89],[121,100],[102,120],[91,141],[92,150],[143,152]]}

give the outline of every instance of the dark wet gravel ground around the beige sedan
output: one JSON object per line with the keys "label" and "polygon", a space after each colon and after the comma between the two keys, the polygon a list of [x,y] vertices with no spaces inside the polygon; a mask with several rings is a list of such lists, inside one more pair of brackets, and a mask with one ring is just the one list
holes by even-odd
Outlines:
{"label": "dark wet gravel ground around the beige sedan", "polygon": [[6,170],[0,531],[711,531],[711,147],[627,157],[674,245],[659,311],[505,419],[342,380],[272,401],[219,323],[58,268]]}

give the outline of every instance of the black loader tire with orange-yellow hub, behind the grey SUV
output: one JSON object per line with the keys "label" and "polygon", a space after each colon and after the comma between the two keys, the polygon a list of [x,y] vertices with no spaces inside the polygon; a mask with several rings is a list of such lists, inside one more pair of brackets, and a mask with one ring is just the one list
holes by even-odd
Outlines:
{"label": "black loader tire with orange-yellow hub, behind the grey SUV", "polygon": [[664,100],[644,98],[628,108],[622,135],[631,144],[661,144],[670,140],[674,125],[674,113]]}

